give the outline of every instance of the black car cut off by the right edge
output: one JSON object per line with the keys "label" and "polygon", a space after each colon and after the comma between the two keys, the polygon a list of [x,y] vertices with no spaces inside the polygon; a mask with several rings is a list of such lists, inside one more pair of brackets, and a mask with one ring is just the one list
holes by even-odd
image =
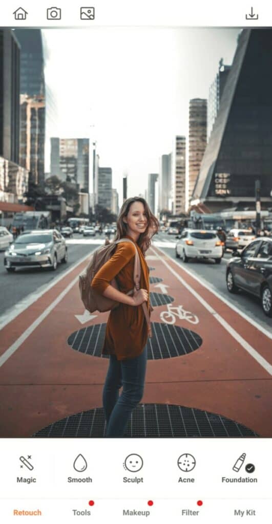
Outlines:
{"label": "black car cut off by the right edge", "polygon": [[259,297],[267,316],[272,316],[272,238],[257,238],[226,267],[226,286],[230,293],[239,289]]}

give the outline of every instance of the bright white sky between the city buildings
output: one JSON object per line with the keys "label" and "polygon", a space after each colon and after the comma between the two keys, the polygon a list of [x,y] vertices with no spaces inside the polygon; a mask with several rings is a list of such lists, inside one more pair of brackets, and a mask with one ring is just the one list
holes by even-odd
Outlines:
{"label": "bright white sky between the city buildings", "polygon": [[[50,136],[90,137],[123,197],[144,194],[148,173],[188,137],[189,100],[209,97],[218,63],[231,64],[238,29],[46,29],[45,76],[58,107]],[[94,127],[90,127],[94,125]]]}

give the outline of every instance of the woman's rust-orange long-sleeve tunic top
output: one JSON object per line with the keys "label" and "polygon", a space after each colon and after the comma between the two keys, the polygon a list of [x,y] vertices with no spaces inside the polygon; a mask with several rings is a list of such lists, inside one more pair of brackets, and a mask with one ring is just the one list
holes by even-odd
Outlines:
{"label": "woman's rust-orange long-sleeve tunic top", "polygon": [[[148,292],[147,309],[149,311],[149,269],[142,250],[132,237],[139,253],[141,263],[140,288]],[[127,293],[134,288],[133,271],[135,247],[130,242],[120,242],[114,255],[97,271],[91,286],[97,293],[103,294],[116,278],[119,291]],[[133,358],[140,355],[147,342],[147,322],[142,305],[134,306],[119,303],[116,309],[110,311],[106,325],[106,335],[102,353],[116,355],[118,360]]]}

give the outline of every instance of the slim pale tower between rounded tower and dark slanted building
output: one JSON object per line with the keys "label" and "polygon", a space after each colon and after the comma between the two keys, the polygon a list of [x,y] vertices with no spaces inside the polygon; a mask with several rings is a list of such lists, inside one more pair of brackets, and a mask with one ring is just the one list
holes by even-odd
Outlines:
{"label": "slim pale tower between rounded tower and dark slanted building", "polygon": [[209,89],[207,140],[209,140],[216,115],[219,111],[220,100],[222,98],[227,75],[229,74],[230,69],[231,65],[224,65],[223,59],[221,58],[219,62],[219,71]]}

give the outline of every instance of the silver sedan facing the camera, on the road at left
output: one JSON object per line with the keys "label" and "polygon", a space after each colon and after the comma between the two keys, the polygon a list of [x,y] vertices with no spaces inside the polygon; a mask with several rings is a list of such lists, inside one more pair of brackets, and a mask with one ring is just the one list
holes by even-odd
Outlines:
{"label": "silver sedan facing the camera, on the road at left", "polygon": [[67,246],[57,230],[35,230],[22,233],[5,252],[4,266],[14,272],[18,267],[50,267],[68,260]]}

